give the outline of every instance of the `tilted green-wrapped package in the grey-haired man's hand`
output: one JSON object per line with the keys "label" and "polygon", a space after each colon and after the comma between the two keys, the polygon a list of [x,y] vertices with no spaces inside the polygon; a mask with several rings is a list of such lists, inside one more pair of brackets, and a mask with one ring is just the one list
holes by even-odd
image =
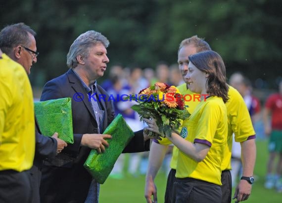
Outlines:
{"label": "tilted green-wrapped package in the grey-haired man's hand", "polygon": [[92,149],[84,167],[93,176],[94,180],[103,184],[112,171],[119,155],[129,143],[134,133],[127,125],[121,114],[110,123],[103,134],[112,135],[107,139],[109,147],[104,153],[98,154],[97,150]]}

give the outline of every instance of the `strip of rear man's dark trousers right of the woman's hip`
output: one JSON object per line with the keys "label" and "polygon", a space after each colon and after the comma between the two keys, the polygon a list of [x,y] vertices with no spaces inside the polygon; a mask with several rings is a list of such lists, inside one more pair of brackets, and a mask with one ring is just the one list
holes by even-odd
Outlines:
{"label": "strip of rear man's dark trousers right of the woman's hip", "polygon": [[221,203],[231,203],[232,194],[232,179],[230,170],[223,170],[221,172],[221,191],[222,201]]}

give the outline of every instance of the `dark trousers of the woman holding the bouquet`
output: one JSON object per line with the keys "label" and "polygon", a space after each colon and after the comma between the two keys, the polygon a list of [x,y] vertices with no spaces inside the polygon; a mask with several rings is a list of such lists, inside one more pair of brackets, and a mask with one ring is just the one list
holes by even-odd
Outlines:
{"label": "dark trousers of the woman holding the bouquet", "polygon": [[220,203],[219,185],[194,178],[176,178],[173,203]]}

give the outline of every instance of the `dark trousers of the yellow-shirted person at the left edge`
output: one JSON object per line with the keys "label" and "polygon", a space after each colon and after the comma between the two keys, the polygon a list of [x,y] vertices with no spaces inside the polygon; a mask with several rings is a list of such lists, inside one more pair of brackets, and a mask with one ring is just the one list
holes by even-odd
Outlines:
{"label": "dark trousers of the yellow-shirted person at the left edge", "polygon": [[0,171],[0,203],[30,203],[31,177],[28,171]]}

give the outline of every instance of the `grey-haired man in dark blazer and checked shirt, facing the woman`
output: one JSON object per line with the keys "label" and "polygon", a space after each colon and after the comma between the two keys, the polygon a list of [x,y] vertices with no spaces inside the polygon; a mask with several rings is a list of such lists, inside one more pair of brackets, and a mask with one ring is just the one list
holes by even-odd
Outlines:
{"label": "grey-haired man in dark blazer and checked shirt, facing the woman", "polygon": [[[108,44],[107,38],[95,31],[81,34],[67,55],[70,69],[44,86],[41,101],[72,98],[74,143],[68,144],[51,166],[43,168],[42,203],[98,203],[99,184],[83,164],[91,149],[99,153],[107,150],[105,138],[111,138],[102,133],[115,117],[113,101],[96,82],[109,62]],[[99,100],[101,95],[105,99]],[[146,150],[149,150],[149,137],[139,131],[123,153]]]}

